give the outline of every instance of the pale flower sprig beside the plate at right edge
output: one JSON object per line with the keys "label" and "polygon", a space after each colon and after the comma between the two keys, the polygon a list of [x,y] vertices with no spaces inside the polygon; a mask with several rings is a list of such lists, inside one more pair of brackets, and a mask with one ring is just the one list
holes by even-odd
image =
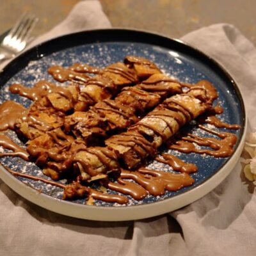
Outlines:
{"label": "pale flower sprig beside the plate at right edge", "polygon": [[256,185],[256,132],[249,134],[248,141],[245,142],[244,150],[251,157],[243,161],[243,163],[246,163],[246,166],[244,166],[244,175],[246,179]]}

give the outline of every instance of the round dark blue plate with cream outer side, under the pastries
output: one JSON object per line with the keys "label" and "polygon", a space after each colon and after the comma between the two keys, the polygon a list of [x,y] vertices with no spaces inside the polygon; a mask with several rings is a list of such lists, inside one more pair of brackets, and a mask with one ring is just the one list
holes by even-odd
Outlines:
{"label": "round dark blue plate with cream outer side, under the pastries", "polygon": [[[89,220],[120,221],[147,218],[179,209],[209,193],[227,177],[243,150],[246,131],[246,116],[241,93],[234,79],[208,56],[179,40],[160,35],[128,29],[100,29],[61,36],[29,49],[11,63],[0,74],[0,101],[16,100],[28,107],[31,101],[12,95],[8,88],[12,83],[33,86],[36,81],[53,81],[47,74],[51,65],[68,67],[75,62],[88,63],[96,67],[106,67],[127,55],[143,56],[161,68],[166,74],[180,81],[196,83],[207,79],[214,84],[220,95],[218,102],[224,109],[221,120],[229,124],[239,124],[241,129],[230,131],[237,134],[234,154],[227,158],[214,158],[199,154],[180,154],[172,150],[184,161],[195,163],[198,172],[191,176],[195,183],[177,192],[166,191],[163,196],[148,195],[141,201],[130,198],[129,204],[117,205],[96,201],[95,205],[84,205],[84,200],[63,201],[62,190],[42,182],[13,177],[3,167],[0,177],[14,191],[29,201],[60,214]],[[56,81],[55,81],[56,83]],[[184,129],[195,131],[193,125]],[[220,129],[221,130],[221,129]],[[225,131],[225,129],[222,129]],[[22,143],[12,131],[5,132],[19,145]],[[207,134],[209,136],[209,134]],[[161,152],[167,152],[161,148]],[[169,150],[171,152],[171,150]],[[17,157],[2,157],[1,163],[16,172],[44,177],[33,163]],[[150,168],[173,172],[172,168],[152,161]],[[49,179],[49,177],[46,177]]]}

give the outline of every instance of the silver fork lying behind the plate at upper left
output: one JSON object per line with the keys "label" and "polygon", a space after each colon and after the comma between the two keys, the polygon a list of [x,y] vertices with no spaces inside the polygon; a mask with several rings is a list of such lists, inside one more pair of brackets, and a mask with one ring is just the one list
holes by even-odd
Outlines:
{"label": "silver fork lying behind the plate at upper left", "polygon": [[0,44],[0,61],[15,57],[26,47],[37,21],[35,15],[23,13]]}

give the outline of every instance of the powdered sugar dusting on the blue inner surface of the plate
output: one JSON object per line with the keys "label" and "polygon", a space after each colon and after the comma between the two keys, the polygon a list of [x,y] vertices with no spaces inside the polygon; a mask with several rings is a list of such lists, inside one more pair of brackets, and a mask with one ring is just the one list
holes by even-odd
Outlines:
{"label": "powdered sugar dusting on the blue inner surface of the plate", "polygon": [[[40,55],[40,54],[39,54]],[[241,117],[239,115],[234,115],[234,113],[239,113],[240,106],[237,105],[236,95],[232,90],[225,88],[225,82],[215,74],[211,68],[200,61],[195,60],[193,56],[188,56],[187,54],[182,54],[182,52],[170,51],[170,49],[158,47],[156,45],[130,43],[130,42],[106,42],[106,43],[95,43],[80,45],[77,47],[72,47],[65,49],[63,51],[53,52],[48,56],[41,56],[38,60],[32,60],[29,64],[20,72],[15,74],[6,84],[2,86],[0,93],[0,102],[6,100],[15,100],[22,105],[29,107],[31,100],[17,97],[17,95],[12,95],[9,92],[9,86],[12,83],[21,83],[28,87],[33,86],[36,82],[45,79],[56,83],[58,85],[65,85],[65,83],[60,84],[52,79],[52,77],[47,74],[47,68],[52,65],[61,65],[63,67],[69,67],[74,63],[86,63],[95,67],[106,67],[107,65],[114,63],[116,61],[123,61],[126,55],[135,55],[148,58],[156,63],[157,67],[163,70],[164,74],[171,76],[174,79],[185,83],[196,83],[201,79],[207,79],[211,81],[214,86],[216,86],[218,92],[220,93],[220,106],[223,107],[224,113],[218,116],[221,121],[228,122],[230,124],[241,123]],[[211,134],[195,128],[196,122],[191,122],[191,124],[184,127],[184,130],[193,132],[198,136],[212,136]],[[211,127],[211,125],[207,125]],[[211,127],[213,128],[213,127]],[[21,147],[25,148],[24,143],[22,143],[19,138],[17,138],[15,132],[8,131],[4,132],[10,136],[15,142],[17,142]],[[239,131],[236,131],[239,136]],[[198,147],[196,145],[196,147]],[[0,152],[3,152],[3,148],[0,148]],[[166,147],[162,147],[160,152],[168,152],[180,157],[188,163],[195,163],[198,166],[198,172],[194,173],[192,177],[195,179],[195,183],[189,188],[182,188],[177,192],[166,192],[163,196],[151,196],[148,195],[145,199],[141,201],[136,201],[131,196],[129,198],[129,205],[140,205],[148,204],[151,202],[157,202],[159,200],[164,200],[165,198],[170,198],[180,193],[184,193],[189,189],[193,189],[199,184],[202,184],[206,179],[211,177],[214,173],[218,172],[220,166],[226,163],[227,159],[214,159],[210,156],[200,156],[198,154],[182,154],[174,150],[168,150]],[[28,163],[17,157],[2,157],[1,163],[8,166],[14,171],[27,173],[35,175],[38,177],[44,177],[45,179],[50,179],[45,177],[34,163]],[[154,170],[163,170],[164,172],[173,172],[170,166],[166,164],[158,163],[157,161],[151,161],[148,163],[148,168]],[[61,188],[51,186],[49,184],[44,184],[43,182],[38,182],[35,180],[28,180],[24,178],[17,178],[38,190],[38,193],[44,193],[45,195],[52,196],[54,198],[61,199],[63,191]],[[65,184],[67,180],[61,180],[60,183]],[[108,190],[109,193],[116,193],[114,191]],[[118,194],[118,193],[116,193]],[[72,200],[74,204],[84,204],[84,200]],[[109,204],[106,202],[101,202],[95,200],[95,205],[102,205],[106,207],[125,207],[127,205],[119,204]]]}

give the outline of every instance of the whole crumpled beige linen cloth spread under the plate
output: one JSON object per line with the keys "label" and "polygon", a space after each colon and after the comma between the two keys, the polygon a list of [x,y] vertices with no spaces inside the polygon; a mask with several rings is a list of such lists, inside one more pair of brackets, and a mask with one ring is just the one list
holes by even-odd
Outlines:
{"label": "whole crumpled beige linen cloth spread under the plate", "polygon": [[[77,4],[33,44],[74,31],[109,28],[97,1]],[[170,28],[171,29],[171,28]],[[185,42],[212,56],[236,79],[256,129],[256,50],[231,25],[189,33]],[[220,186],[179,211],[148,220],[100,222],[61,216],[31,204],[0,180],[0,255],[256,255],[256,196],[241,164]]]}

